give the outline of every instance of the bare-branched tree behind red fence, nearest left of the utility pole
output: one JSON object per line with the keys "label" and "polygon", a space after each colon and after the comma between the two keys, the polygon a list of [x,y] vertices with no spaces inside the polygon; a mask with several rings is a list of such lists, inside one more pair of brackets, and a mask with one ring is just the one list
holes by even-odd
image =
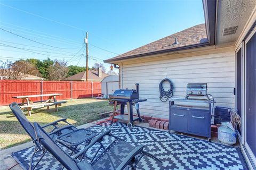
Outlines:
{"label": "bare-branched tree behind red fence, nearest left of the utility pole", "polygon": [[67,62],[60,61],[60,60],[54,60],[53,65],[51,65],[48,69],[49,73],[49,80],[63,80],[67,77],[68,74],[68,67]]}

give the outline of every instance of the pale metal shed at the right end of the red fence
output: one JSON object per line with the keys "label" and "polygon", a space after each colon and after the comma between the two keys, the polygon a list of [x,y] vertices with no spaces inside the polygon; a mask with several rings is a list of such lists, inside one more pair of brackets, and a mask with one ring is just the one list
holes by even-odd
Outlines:
{"label": "pale metal shed at the right end of the red fence", "polygon": [[119,89],[118,75],[109,75],[101,81],[101,94],[108,98],[109,94],[113,94],[115,90]]}

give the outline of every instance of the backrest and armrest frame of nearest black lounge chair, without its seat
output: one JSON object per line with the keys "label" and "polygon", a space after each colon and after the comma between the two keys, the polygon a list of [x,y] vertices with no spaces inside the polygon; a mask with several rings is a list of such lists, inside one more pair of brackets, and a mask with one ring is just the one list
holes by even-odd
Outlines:
{"label": "backrest and armrest frame of nearest black lounge chair, without its seat", "polygon": [[[113,145],[115,145],[115,142],[118,142],[118,141],[125,142],[123,139],[112,135],[111,130],[108,130],[108,131],[105,131],[105,132],[101,133],[100,135],[98,135],[98,137],[95,138],[88,146],[86,146],[83,150],[79,151],[76,155],[71,157],[70,155],[66,154],[57,145],[57,143],[50,138],[49,134],[47,134],[43,130],[43,128],[36,122],[34,123],[34,129],[35,129],[35,133],[37,135],[38,142],[41,143],[41,145],[45,148],[45,150],[48,150],[62,164],[63,168],[65,167],[68,170],[69,169],[74,169],[74,170],[76,170],[76,169],[80,169],[80,170],[94,169],[93,168],[94,163],[96,163],[99,159],[101,159],[101,157],[104,156],[105,154],[108,154],[108,151],[111,149],[111,147]],[[103,137],[105,137],[105,135],[109,135],[109,136],[115,138],[115,140],[113,142],[111,142],[110,145],[108,145],[108,147],[106,147],[106,148],[101,143],[101,141],[103,140]],[[91,148],[93,145],[95,145],[95,143],[97,143],[97,142],[100,142],[100,147],[103,148],[104,150],[96,157],[95,157],[95,155],[97,155],[97,154],[95,154],[94,155],[95,158],[93,158],[89,164],[89,163],[85,162],[85,160],[83,160],[84,155],[86,154],[86,151],[89,148]],[[125,143],[127,143],[127,142],[125,142]],[[130,144],[127,143],[127,145],[130,145]],[[141,160],[143,155],[148,155],[149,157],[157,160],[158,162],[161,162],[161,160],[159,160],[155,156],[144,151],[143,147],[144,147],[143,145],[140,145],[140,146],[136,147],[135,149],[133,149],[116,169],[123,170],[126,166],[131,166],[132,169],[136,169],[136,165],[139,163],[139,161]],[[97,150],[97,153],[98,153],[98,151],[99,150]],[[82,168],[79,166],[80,163],[82,163],[82,165],[83,165]],[[110,163],[113,165],[113,162],[111,162],[111,160],[110,160]]]}

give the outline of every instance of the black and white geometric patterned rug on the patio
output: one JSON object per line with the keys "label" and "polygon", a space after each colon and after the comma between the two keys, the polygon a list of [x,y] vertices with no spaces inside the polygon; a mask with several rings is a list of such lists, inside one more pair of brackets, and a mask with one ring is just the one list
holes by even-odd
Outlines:
{"label": "black and white geometric patterned rug on the patio", "polygon": [[[144,156],[137,169],[247,169],[242,152],[236,147],[139,126],[129,129],[123,123],[95,125],[89,129],[98,132],[111,129],[111,133],[133,146],[145,145],[147,152],[163,162],[160,164],[150,157]],[[110,139],[105,139],[105,145],[110,142]],[[12,156],[23,169],[29,169],[33,151],[34,147],[30,147],[14,152]],[[89,155],[93,151],[95,148],[90,150]],[[37,159],[39,159],[39,154],[34,158],[34,160]],[[37,168],[59,169],[60,164],[47,152]]]}

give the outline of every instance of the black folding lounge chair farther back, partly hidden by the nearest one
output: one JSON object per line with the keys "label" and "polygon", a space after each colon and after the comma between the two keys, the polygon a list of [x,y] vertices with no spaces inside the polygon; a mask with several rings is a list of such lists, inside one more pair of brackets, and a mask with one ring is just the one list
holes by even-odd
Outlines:
{"label": "black folding lounge chair farther back, partly hidden by the nearest one", "polygon": [[[45,152],[43,152],[41,158],[38,160],[36,165],[34,167],[32,167],[33,166],[33,157],[36,154],[36,152],[43,151],[42,147],[36,139],[36,134],[35,134],[33,125],[28,121],[25,114],[23,114],[19,105],[14,102],[14,103],[10,104],[10,108],[11,108],[13,114],[17,117],[17,119],[20,122],[20,124],[22,125],[22,127],[25,129],[25,131],[29,134],[29,136],[31,137],[31,139],[35,143],[35,150],[34,150],[33,155],[31,156],[30,167],[29,167],[29,169],[35,169],[36,166],[38,165],[38,163],[41,161],[41,159],[45,155]],[[57,125],[58,125],[59,122],[65,122],[67,125],[63,126],[62,128],[58,128]],[[46,128],[46,127],[49,127],[49,126],[53,126],[53,130],[49,133],[50,137],[53,140],[55,140],[60,135],[67,134],[67,133],[70,133],[70,132],[73,132],[73,131],[77,130],[77,128],[75,128],[75,126],[73,126],[73,125],[71,125],[67,122],[67,118],[62,118],[60,120],[57,120],[57,121],[54,121],[52,123],[46,124],[46,125],[42,126],[42,128]],[[65,145],[63,145],[63,146],[65,146]],[[67,146],[65,146],[65,147],[67,147]],[[72,148],[70,148],[70,147],[67,147],[67,148],[72,150]],[[71,154],[72,153],[73,153],[73,151],[71,152]]]}

